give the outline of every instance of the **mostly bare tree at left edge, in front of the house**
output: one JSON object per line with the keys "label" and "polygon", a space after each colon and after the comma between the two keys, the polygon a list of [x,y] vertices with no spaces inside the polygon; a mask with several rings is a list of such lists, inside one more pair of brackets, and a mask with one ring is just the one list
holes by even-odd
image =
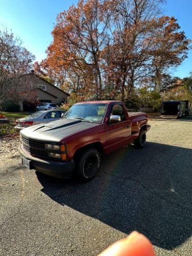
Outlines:
{"label": "mostly bare tree at left edge, in front of the house", "polygon": [[0,108],[5,101],[18,100],[18,83],[32,68],[34,56],[7,29],[0,31]]}

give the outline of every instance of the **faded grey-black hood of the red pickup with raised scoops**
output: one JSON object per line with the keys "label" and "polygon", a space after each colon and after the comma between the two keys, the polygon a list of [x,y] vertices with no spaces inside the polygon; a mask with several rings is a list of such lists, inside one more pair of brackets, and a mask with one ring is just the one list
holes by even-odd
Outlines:
{"label": "faded grey-black hood of the red pickup with raised scoops", "polygon": [[65,137],[97,125],[99,125],[99,123],[63,118],[49,123],[41,123],[30,126],[23,129],[20,134],[30,139],[59,142]]}

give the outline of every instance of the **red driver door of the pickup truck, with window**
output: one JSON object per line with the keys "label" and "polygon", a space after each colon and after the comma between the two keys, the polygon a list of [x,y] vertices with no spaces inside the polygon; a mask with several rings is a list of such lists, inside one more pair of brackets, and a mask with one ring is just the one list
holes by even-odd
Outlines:
{"label": "red driver door of the pickup truck, with window", "polygon": [[[120,122],[110,122],[110,116],[120,116]],[[106,151],[110,153],[127,145],[131,139],[131,121],[121,103],[112,105],[109,123],[106,124]]]}

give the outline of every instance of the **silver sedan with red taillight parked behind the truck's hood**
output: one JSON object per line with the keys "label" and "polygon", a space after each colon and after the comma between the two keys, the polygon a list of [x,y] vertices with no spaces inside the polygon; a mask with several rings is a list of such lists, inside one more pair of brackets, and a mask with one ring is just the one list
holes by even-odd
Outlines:
{"label": "silver sedan with red taillight parked behind the truck's hood", "polygon": [[55,121],[60,119],[62,114],[65,114],[65,111],[37,111],[27,117],[17,119],[15,129],[20,132],[20,130],[35,124]]}

